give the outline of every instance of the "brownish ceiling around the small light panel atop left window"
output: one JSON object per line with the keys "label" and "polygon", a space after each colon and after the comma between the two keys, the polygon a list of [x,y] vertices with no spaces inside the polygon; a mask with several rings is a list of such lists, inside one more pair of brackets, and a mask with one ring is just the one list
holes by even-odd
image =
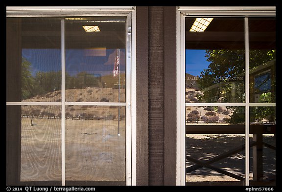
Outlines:
{"label": "brownish ceiling around the small light panel atop left window", "polygon": [[[66,48],[125,48],[125,18],[110,19],[65,20]],[[86,32],[83,25],[97,25],[100,32]],[[22,48],[61,48],[60,19],[24,18],[21,29]]]}

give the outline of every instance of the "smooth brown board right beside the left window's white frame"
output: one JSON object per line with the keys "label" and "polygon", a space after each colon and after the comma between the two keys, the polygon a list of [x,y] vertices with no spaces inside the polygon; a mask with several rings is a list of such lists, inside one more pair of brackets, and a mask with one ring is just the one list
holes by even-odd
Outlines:
{"label": "smooth brown board right beside the left window's white frame", "polygon": [[136,89],[137,89],[137,144],[136,184],[149,185],[148,179],[148,7],[136,8]]}

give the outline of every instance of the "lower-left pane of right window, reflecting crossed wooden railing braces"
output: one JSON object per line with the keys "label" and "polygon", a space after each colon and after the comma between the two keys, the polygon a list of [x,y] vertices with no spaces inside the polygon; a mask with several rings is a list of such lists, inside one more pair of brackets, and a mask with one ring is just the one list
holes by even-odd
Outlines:
{"label": "lower-left pane of right window, reflecting crossed wooden railing braces", "polygon": [[186,185],[244,185],[245,107],[186,107]]}

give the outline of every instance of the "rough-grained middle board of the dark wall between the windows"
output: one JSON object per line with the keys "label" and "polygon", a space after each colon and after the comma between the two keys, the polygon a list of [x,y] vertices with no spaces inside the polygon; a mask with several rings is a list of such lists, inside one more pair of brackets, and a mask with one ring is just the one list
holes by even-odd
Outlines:
{"label": "rough-grained middle board of the dark wall between the windows", "polygon": [[164,7],[149,7],[149,185],[164,185]]}

